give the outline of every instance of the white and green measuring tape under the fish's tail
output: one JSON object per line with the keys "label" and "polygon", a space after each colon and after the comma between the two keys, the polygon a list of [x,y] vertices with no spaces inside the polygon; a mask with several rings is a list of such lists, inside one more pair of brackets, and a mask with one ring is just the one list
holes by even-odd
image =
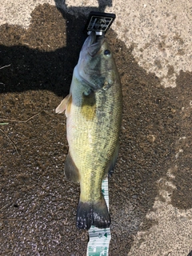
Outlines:
{"label": "white and green measuring tape under the fish's tail", "polygon": [[[108,178],[102,181],[102,194],[109,210]],[[108,256],[111,238],[110,228],[98,229],[97,227],[91,226],[89,238],[86,256]]]}

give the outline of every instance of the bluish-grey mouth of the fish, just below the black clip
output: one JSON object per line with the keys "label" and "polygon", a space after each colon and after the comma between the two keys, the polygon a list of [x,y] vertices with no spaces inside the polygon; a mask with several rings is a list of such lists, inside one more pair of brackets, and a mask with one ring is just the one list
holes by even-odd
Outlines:
{"label": "bluish-grey mouth of the fish, just below the black clip", "polygon": [[91,57],[94,57],[95,54],[101,49],[103,42],[105,41],[105,36],[97,36],[94,31],[92,31],[86,41],[82,46],[82,50],[86,50]]}

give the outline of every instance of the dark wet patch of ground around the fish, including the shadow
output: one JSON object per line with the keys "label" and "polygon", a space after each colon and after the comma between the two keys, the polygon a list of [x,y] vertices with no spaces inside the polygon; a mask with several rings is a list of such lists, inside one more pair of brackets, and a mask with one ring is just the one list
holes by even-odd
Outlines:
{"label": "dark wet patch of ground around the fish, including the shadow", "polygon": [[[86,254],[87,233],[75,226],[79,187],[63,177],[68,150],[66,120],[54,114],[69,92],[86,38],[82,34],[85,22],[84,16],[75,18],[44,4],[33,11],[28,30],[7,24],[1,27],[0,67],[6,66],[0,70],[0,122],[4,123],[0,127],[0,221],[4,255]],[[182,107],[188,106],[192,77],[182,72],[177,88],[162,88],[154,74],[146,74],[138,66],[132,49],[126,49],[113,30],[107,38],[123,92],[120,152],[110,178],[110,255],[121,256],[129,252],[134,235],[154,205],[156,182],[175,165],[175,142],[183,135],[183,123],[185,133],[190,135],[191,112],[184,115]],[[190,144],[188,140],[182,145],[186,153]],[[192,179],[190,162],[179,161],[178,174],[183,164],[188,170],[182,179],[186,188]],[[189,198],[189,190],[180,186],[181,191],[181,198],[186,193]],[[175,192],[173,203],[178,208],[191,207],[192,200],[184,204],[177,198]],[[154,224],[146,222],[145,228]]]}

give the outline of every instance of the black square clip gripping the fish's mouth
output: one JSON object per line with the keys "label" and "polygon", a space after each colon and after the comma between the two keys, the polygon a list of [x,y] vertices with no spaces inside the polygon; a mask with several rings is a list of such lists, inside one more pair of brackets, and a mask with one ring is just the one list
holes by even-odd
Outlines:
{"label": "black square clip gripping the fish's mouth", "polygon": [[106,34],[116,18],[115,14],[91,11],[86,22],[85,31],[89,35],[92,31],[96,35]]}

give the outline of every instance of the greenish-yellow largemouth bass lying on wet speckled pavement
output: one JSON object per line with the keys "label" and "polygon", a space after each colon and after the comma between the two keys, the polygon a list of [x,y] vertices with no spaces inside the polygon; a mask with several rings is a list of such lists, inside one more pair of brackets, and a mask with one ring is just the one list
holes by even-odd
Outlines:
{"label": "greenish-yellow largemouth bass lying on wet speckled pavement", "polygon": [[77,226],[110,226],[102,195],[102,180],[113,170],[118,155],[122,120],[122,90],[114,58],[103,36],[86,38],[70,85],[70,94],[57,107],[66,110],[69,152],[66,178],[80,182]]}

